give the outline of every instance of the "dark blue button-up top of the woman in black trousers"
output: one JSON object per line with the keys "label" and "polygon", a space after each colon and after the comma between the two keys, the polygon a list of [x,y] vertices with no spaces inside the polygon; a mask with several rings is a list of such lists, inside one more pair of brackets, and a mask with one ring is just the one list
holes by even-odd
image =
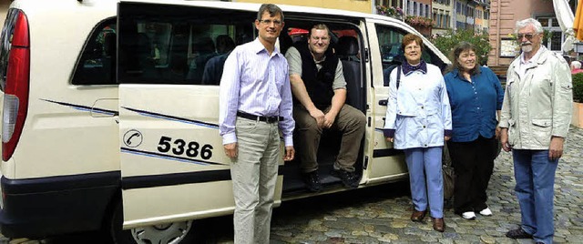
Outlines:
{"label": "dark blue button-up top of the woman in black trousers", "polygon": [[457,69],[444,76],[452,108],[452,141],[468,142],[478,136],[491,138],[496,131],[496,110],[502,109],[504,91],[492,70],[480,66],[480,72],[465,79]]}

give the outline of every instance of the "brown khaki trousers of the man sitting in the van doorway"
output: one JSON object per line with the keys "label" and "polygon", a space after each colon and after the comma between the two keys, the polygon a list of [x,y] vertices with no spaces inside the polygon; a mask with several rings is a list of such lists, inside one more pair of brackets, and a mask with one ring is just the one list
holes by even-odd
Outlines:
{"label": "brown khaki trousers of the man sitting in the van doorway", "polygon": [[[330,108],[326,107],[322,112],[326,114],[330,111]],[[293,107],[293,119],[295,120],[295,129],[300,140],[294,143],[298,150],[298,156],[302,161],[300,168],[304,173],[317,170],[317,154],[320,138],[322,137],[322,128],[318,127],[316,119],[310,116],[310,113],[302,105]],[[358,150],[366,129],[366,117],[363,112],[345,104],[340,109],[330,129],[343,133],[340,152],[338,152],[338,157],[334,162],[334,168],[353,172],[354,163],[358,157]]]}

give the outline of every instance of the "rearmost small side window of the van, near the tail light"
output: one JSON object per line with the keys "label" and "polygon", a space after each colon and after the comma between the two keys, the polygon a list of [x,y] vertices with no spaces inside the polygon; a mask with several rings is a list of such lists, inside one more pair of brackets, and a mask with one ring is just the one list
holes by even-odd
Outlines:
{"label": "rearmost small side window of the van, near the tail light", "polygon": [[97,25],[83,47],[71,83],[73,85],[114,85],[116,83],[116,19]]}

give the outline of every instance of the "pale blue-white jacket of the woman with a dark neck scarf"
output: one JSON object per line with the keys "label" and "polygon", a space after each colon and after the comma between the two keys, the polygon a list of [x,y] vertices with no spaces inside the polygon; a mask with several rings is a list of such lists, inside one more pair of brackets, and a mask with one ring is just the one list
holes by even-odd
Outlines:
{"label": "pale blue-white jacket of the woman with a dark neck scarf", "polygon": [[441,70],[427,64],[426,74],[402,74],[398,89],[396,73],[395,68],[390,76],[385,137],[394,135],[396,149],[444,146],[444,136],[451,136],[452,114]]}

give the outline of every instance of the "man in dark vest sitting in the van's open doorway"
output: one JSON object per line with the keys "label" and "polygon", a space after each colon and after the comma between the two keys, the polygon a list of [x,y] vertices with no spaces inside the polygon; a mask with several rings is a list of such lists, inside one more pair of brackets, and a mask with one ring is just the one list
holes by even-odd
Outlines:
{"label": "man in dark vest sitting in the van's open doorway", "polygon": [[292,94],[295,98],[293,119],[296,121],[297,143],[302,177],[311,191],[320,191],[317,152],[322,132],[342,132],[340,152],[332,176],[342,179],[346,188],[358,187],[359,175],[354,171],[363,139],[366,117],[358,109],[344,104],[346,81],[343,66],[330,46],[330,30],[323,24],[313,25],[308,43],[300,42],[286,53],[290,66]]}

